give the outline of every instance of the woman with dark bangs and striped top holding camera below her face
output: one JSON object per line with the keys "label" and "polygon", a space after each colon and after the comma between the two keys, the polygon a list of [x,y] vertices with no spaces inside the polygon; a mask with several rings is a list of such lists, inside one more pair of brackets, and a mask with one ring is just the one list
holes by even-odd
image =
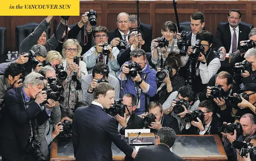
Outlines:
{"label": "woman with dark bangs and striped top holding camera below her face", "polygon": [[[177,46],[177,39],[173,37],[176,35],[177,27],[172,21],[166,21],[163,23],[161,38],[156,38],[151,42],[151,53],[152,53],[152,63],[157,66],[157,68],[163,68],[170,52],[180,53],[180,49]],[[163,45],[159,47],[159,39],[166,39],[168,45]],[[162,66],[161,66],[162,65]]]}

